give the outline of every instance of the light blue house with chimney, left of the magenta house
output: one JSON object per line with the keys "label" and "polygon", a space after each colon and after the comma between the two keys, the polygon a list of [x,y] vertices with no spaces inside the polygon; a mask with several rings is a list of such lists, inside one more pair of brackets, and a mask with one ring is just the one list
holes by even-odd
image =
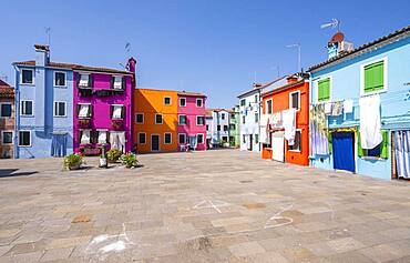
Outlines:
{"label": "light blue house with chimney, left of the magenta house", "polygon": [[35,44],[35,60],[14,62],[16,158],[63,156],[73,149],[73,71],[50,61]]}

